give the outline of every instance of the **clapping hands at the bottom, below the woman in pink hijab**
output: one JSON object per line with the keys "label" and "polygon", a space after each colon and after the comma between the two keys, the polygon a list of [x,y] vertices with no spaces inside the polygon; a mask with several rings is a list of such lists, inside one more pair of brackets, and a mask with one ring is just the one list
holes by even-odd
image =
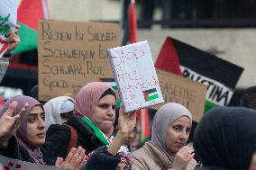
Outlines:
{"label": "clapping hands at the bottom, below the woman in pink hijab", "polygon": [[65,160],[63,160],[62,157],[57,157],[55,166],[69,169],[80,169],[83,166],[85,154],[85,149],[81,147],[71,148],[69,155]]}

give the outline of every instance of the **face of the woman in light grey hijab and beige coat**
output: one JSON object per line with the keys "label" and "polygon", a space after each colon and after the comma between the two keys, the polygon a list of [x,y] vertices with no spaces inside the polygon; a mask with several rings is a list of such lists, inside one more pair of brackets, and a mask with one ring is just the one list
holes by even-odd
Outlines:
{"label": "face of the woman in light grey hijab and beige coat", "polygon": [[187,144],[190,130],[191,121],[187,116],[181,116],[169,124],[165,144],[170,152],[177,153]]}

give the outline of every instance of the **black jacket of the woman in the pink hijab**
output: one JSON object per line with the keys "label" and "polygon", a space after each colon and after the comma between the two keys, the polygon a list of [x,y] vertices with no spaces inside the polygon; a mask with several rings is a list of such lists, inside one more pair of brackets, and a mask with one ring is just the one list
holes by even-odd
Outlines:
{"label": "black jacket of the woman in the pink hijab", "polygon": [[[94,131],[83,121],[75,116],[71,117],[67,122],[78,133],[77,147],[81,146],[86,149],[86,154],[96,150],[96,148],[104,146],[104,144],[96,138]],[[41,152],[47,165],[54,165],[57,157],[66,158],[69,148],[69,140],[71,131],[65,125],[50,125],[46,134],[46,142],[41,147]]]}

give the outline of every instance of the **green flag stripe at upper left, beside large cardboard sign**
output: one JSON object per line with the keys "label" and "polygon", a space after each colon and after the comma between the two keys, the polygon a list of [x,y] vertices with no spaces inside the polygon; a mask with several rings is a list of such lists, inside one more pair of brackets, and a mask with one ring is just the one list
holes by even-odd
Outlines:
{"label": "green flag stripe at upper left, beside large cardboard sign", "polygon": [[21,25],[21,28],[19,29],[19,36],[20,36],[21,42],[14,49],[13,55],[20,54],[22,52],[29,51],[32,49],[37,49],[37,44],[38,44],[37,31],[24,25],[21,22],[18,22],[18,24]]}

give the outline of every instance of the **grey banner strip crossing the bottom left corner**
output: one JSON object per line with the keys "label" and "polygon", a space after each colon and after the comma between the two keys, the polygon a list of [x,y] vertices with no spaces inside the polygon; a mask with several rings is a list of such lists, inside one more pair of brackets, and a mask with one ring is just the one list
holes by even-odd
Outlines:
{"label": "grey banner strip crossing the bottom left corner", "polygon": [[4,157],[0,155],[0,169],[2,170],[64,170],[63,168],[58,168],[55,166],[43,166],[40,164],[25,162],[17,159],[12,159],[9,157]]}

